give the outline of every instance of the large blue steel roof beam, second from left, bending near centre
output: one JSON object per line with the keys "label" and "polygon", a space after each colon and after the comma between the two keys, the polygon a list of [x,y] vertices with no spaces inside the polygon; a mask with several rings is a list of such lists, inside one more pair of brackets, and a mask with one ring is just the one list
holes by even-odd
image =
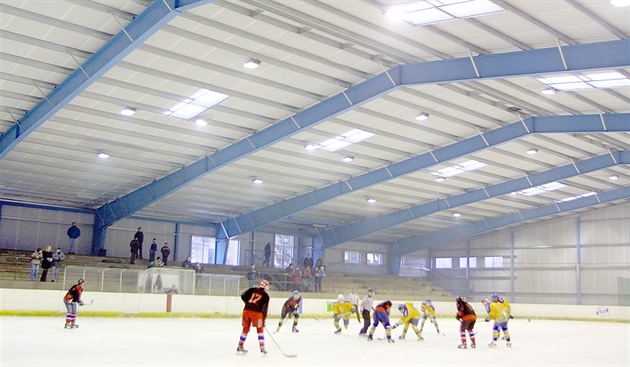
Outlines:
{"label": "large blue steel roof beam, second from left, bending near centre", "polygon": [[[563,48],[567,65],[571,66],[569,71],[630,66],[630,54],[626,52],[630,48],[630,39],[578,46],[566,46]],[[540,57],[552,57],[551,55],[554,52],[559,60],[558,63],[539,59]],[[597,54],[593,52],[597,52]],[[567,58],[567,55],[570,55],[570,60]],[[566,72],[567,70],[561,60],[558,49],[554,47],[477,57],[475,58],[475,64],[479,70],[483,70],[483,75],[480,76],[477,76],[470,58],[467,57],[396,66],[111,203],[105,204],[97,209],[95,226],[110,226],[207,173],[301,131],[312,128],[323,121],[361,106],[401,86]],[[466,63],[468,65],[464,66]],[[538,66],[539,63],[540,66]],[[497,69],[497,72],[494,72],[493,68],[497,65],[502,66]],[[380,171],[377,173],[380,173]],[[337,188],[332,190],[338,191]],[[236,225],[236,222],[233,223]],[[238,226],[235,228],[238,228]],[[227,227],[226,229],[228,237],[231,237],[232,229]],[[235,232],[244,233],[245,231],[236,230]]]}

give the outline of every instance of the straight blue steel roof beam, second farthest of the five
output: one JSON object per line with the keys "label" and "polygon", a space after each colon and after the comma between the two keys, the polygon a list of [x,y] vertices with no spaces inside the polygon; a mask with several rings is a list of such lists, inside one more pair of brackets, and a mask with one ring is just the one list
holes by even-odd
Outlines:
{"label": "straight blue steel roof beam, second farthest of the five", "polygon": [[320,232],[319,236],[322,238],[326,248],[333,247],[340,243],[351,241],[371,233],[410,222],[412,220],[417,220],[443,210],[449,210],[478,201],[508,195],[512,192],[548,184],[554,181],[565,180],[619,164],[630,164],[630,151],[612,152],[583,161],[572,162],[565,166],[553,168],[530,176],[490,185],[471,192],[450,196],[445,199],[430,201],[422,205],[416,205],[412,208],[380,215],[378,217],[362,220],[346,226],[334,227]]}

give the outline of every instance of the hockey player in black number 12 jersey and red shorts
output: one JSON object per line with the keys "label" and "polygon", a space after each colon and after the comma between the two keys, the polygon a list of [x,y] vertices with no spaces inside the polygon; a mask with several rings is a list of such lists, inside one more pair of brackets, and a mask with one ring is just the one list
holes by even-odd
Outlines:
{"label": "hockey player in black number 12 jersey and red shorts", "polygon": [[250,327],[254,326],[258,332],[260,352],[267,353],[267,349],[265,349],[264,328],[265,320],[267,319],[267,308],[269,307],[268,290],[269,281],[263,279],[260,281],[258,288],[249,288],[241,294],[241,299],[245,303],[242,318],[243,331],[238,341],[236,352],[247,353],[247,349],[244,348],[245,339],[247,339],[247,333],[249,333]]}

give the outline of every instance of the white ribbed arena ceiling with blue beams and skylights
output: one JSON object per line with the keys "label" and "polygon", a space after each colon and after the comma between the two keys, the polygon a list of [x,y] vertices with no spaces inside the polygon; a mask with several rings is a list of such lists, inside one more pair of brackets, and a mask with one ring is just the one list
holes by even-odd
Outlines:
{"label": "white ribbed arena ceiling with blue beams and skylights", "polygon": [[4,0],[0,17],[0,200],[97,228],[406,253],[630,197],[630,6]]}

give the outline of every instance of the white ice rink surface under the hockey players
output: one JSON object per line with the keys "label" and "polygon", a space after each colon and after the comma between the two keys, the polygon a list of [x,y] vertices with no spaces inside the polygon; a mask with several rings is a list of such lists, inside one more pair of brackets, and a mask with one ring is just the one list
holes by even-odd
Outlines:
{"label": "white ice rink surface under the hockey players", "polygon": [[[270,316],[271,317],[271,316]],[[236,353],[240,318],[161,319],[79,317],[78,329],[64,329],[63,317],[1,317],[0,366],[629,366],[630,324],[608,322],[510,321],[512,348],[499,340],[488,347],[492,324],[477,322],[477,349],[457,349],[459,323],[438,319],[438,335],[428,321],[419,342],[410,330],[393,330],[395,343],[359,337],[356,318],[335,335],[332,319],[302,319],[272,334],[286,358],[267,336],[269,353],[258,349],[255,331]],[[394,319],[396,320],[396,319]],[[277,318],[267,320],[275,331]]]}

